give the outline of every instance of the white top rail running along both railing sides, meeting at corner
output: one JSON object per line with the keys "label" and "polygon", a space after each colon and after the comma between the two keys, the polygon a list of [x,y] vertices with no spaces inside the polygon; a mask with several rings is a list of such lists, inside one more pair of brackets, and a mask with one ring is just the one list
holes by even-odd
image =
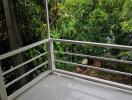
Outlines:
{"label": "white top rail running along both railing sides, meeting at corner", "polygon": [[99,46],[99,47],[105,47],[105,48],[116,48],[116,49],[123,49],[123,50],[132,50],[132,46],[125,46],[125,45],[116,45],[116,44],[105,44],[105,43],[96,43],[96,42],[87,42],[87,41],[76,41],[76,40],[66,40],[66,39],[45,39],[33,44],[30,44],[28,46],[19,48],[17,50],[13,50],[11,52],[5,53],[0,55],[0,60],[3,60],[5,58],[11,57],[13,55],[16,55],[18,53],[21,53],[23,51],[29,50],[33,47],[39,46],[41,44],[44,44],[46,42],[49,42],[50,40],[52,41],[58,41],[58,42],[66,42],[66,43],[71,43],[71,44],[89,44],[93,46]]}

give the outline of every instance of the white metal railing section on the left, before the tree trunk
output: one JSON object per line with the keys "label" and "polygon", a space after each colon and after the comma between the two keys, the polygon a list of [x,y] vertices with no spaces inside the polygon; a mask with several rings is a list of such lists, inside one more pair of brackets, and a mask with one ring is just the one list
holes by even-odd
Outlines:
{"label": "white metal railing section on the left, before the tree trunk", "polygon": [[[31,45],[28,45],[28,46],[19,48],[19,49],[17,49],[17,50],[11,51],[11,52],[9,52],[9,53],[2,54],[2,55],[0,55],[0,61],[4,60],[4,59],[6,59],[6,58],[12,57],[12,56],[14,56],[14,55],[16,55],[16,54],[19,54],[19,53],[25,52],[25,51],[27,51],[27,50],[30,50],[30,49],[32,49],[32,48],[38,47],[38,46],[43,45],[43,44],[49,45],[49,44],[51,44],[51,42],[52,42],[52,41],[50,41],[50,39],[45,39],[45,40],[42,40],[42,41],[33,43],[33,44],[31,44]],[[49,46],[47,46],[47,47],[49,48]],[[15,66],[15,67],[13,67],[13,68],[11,68],[11,69],[5,71],[5,72],[2,72],[2,71],[0,70],[0,97],[1,97],[1,100],[8,100],[8,99],[9,99],[9,100],[12,100],[12,99],[15,98],[17,95],[19,95],[20,93],[22,93],[24,90],[26,90],[27,88],[29,88],[30,86],[32,86],[33,84],[35,84],[37,81],[39,81],[40,79],[42,79],[42,76],[44,77],[44,76],[48,75],[49,73],[51,73],[50,70],[47,70],[47,71],[45,72],[45,73],[47,73],[47,74],[41,75],[41,78],[38,77],[38,78],[34,79],[33,81],[27,83],[25,86],[23,86],[22,88],[20,88],[20,89],[17,90],[16,92],[14,92],[13,94],[7,96],[6,88],[8,88],[8,87],[11,86],[12,84],[16,83],[16,82],[19,81],[20,79],[26,77],[27,75],[31,74],[31,73],[34,72],[35,70],[37,70],[37,69],[43,67],[44,65],[47,65],[47,64],[49,63],[50,60],[45,61],[44,63],[42,63],[42,64],[36,66],[35,68],[31,69],[31,70],[28,71],[28,72],[25,72],[23,75],[17,77],[16,79],[12,80],[11,82],[9,82],[9,83],[7,83],[7,84],[5,84],[4,78],[3,78],[3,77],[4,77],[5,75],[7,75],[7,74],[9,74],[9,73],[11,73],[11,72],[13,72],[13,71],[15,71],[16,69],[19,69],[19,68],[23,67],[24,65],[26,65],[26,64],[28,64],[28,63],[30,63],[30,62],[36,60],[36,59],[39,59],[40,57],[43,57],[43,56],[47,57],[48,55],[52,55],[52,54],[49,54],[49,53],[50,53],[49,50],[47,50],[47,51],[48,51],[48,52],[44,52],[44,53],[42,53],[42,54],[40,54],[40,55],[38,55],[38,56],[36,56],[36,57],[34,57],[34,58],[31,58],[31,59],[29,59],[29,60],[27,60],[27,61],[25,61],[25,62],[23,62],[23,63],[21,63],[21,64],[19,64],[19,65],[17,65],[17,66]],[[47,57],[47,58],[48,58],[48,57]],[[49,58],[49,59],[50,59],[50,58]],[[49,66],[50,66],[50,65],[49,65]],[[3,67],[3,66],[1,66],[1,67]],[[0,68],[1,68],[1,67],[0,67]],[[49,68],[49,69],[50,69],[50,68]]]}

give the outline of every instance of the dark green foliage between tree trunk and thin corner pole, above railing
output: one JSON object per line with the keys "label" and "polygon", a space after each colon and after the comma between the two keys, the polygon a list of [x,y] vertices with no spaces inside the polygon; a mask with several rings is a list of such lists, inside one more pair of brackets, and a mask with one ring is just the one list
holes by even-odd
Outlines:
{"label": "dark green foliage between tree trunk and thin corner pole, above railing", "polygon": [[15,0],[16,16],[25,45],[46,37],[44,8],[36,0]]}

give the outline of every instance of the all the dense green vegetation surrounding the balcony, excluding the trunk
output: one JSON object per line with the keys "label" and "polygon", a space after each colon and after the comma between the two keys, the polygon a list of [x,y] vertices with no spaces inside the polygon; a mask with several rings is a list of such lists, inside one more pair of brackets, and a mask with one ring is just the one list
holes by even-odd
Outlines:
{"label": "all the dense green vegetation surrounding the balcony, excluding the trunk", "polygon": [[[132,0],[48,0],[51,36],[53,38],[73,39],[132,46]],[[47,37],[47,25],[43,0],[13,0],[16,23],[22,46],[37,42]],[[9,36],[2,0],[0,0],[0,54],[10,51]],[[55,43],[55,50],[81,53],[93,56],[132,60],[132,51],[100,48],[90,45],[71,45]],[[31,49],[23,53],[24,61],[46,51],[46,46]],[[65,55],[65,56],[64,56]],[[63,57],[63,58],[62,58]],[[56,54],[57,59],[81,63],[83,57]],[[47,58],[43,57],[25,66],[26,71],[34,68]],[[89,59],[89,58],[87,58]],[[93,65],[96,59],[89,59]],[[7,64],[7,62],[9,64]],[[99,61],[100,67],[130,72],[131,65]],[[10,59],[3,61],[2,70],[10,69]],[[132,77],[126,77],[92,69],[79,69],[78,66],[56,64],[57,68],[100,77],[108,80],[131,84]],[[60,67],[61,66],[61,67]],[[63,67],[62,67],[63,66]],[[46,70],[44,67],[35,72],[29,80]],[[85,71],[84,71],[85,70]],[[32,76],[32,78],[31,78]],[[116,77],[115,77],[116,76]],[[6,77],[6,82],[13,79],[13,74]],[[28,80],[28,81],[29,81]],[[12,87],[14,88],[14,86]],[[10,90],[9,90],[10,91]]]}

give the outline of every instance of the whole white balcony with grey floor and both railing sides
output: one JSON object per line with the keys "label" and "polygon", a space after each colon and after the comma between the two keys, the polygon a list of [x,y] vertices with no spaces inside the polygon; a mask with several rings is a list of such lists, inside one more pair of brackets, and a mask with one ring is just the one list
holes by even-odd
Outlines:
{"label": "whole white balcony with grey floor and both railing sides", "polygon": [[[38,47],[43,44],[47,45],[48,47],[45,53],[42,53],[32,59],[29,59],[28,61],[25,61],[5,72],[0,71],[1,100],[43,100],[43,99],[45,100],[131,100],[132,98],[131,86],[57,69],[56,63],[64,63],[67,64],[67,66],[74,65],[74,66],[86,67],[89,69],[96,69],[108,73],[114,73],[117,75],[119,74],[126,75],[129,77],[132,76],[132,73],[83,65],[83,64],[56,59],[55,53],[59,52],[59,53],[68,54],[71,56],[78,56],[78,57],[92,57],[96,59],[114,61],[125,64],[132,64],[131,61],[55,51],[54,43],[56,42],[60,42],[63,44],[66,43],[66,44],[76,44],[76,45],[91,45],[91,46],[104,47],[104,48],[132,50],[131,46],[49,38],[28,45],[26,47],[11,51],[9,53],[0,55],[0,61],[2,61],[16,54],[25,52],[29,49]],[[29,70],[25,74],[17,77],[11,82],[5,84],[3,77],[6,74],[16,69],[19,69],[24,65],[36,59],[39,59],[42,56],[46,56],[48,60],[36,66],[32,70]],[[17,81],[28,76],[30,73],[34,72],[35,70],[41,68],[44,65],[48,65],[48,70],[42,72],[38,77],[30,81],[29,83],[25,84],[24,86],[22,86],[20,89],[14,91],[12,94],[7,95],[6,89],[9,86],[15,84]]]}

